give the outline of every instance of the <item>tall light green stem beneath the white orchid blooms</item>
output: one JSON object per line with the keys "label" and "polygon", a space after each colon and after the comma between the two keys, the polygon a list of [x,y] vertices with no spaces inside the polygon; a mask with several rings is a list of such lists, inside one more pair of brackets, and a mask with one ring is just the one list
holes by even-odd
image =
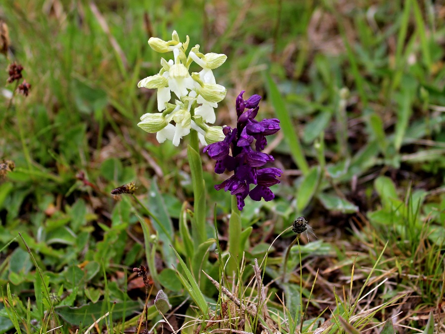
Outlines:
{"label": "tall light green stem beneath the white orchid blooms", "polygon": [[206,187],[203,179],[202,160],[199,154],[198,133],[190,130],[190,145],[187,148],[188,162],[193,184],[193,208],[192,238],[195,249],[207,240],[206,234]]}

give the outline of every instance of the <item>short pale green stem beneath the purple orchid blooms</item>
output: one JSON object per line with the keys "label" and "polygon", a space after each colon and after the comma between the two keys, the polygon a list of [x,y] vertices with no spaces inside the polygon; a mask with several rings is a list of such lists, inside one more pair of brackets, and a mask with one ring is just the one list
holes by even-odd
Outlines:
{"label": "short pale green stem beneath the purple orchid blooms", "polygon": [[230,253],[230,261],[227,264],[228,275],[231,276],[234,272],[237,273],[240,261],[241,251],[241,215],[238,210],[236,196],[231,196],[231,214],[229,220],[229,235],[228,248]]}

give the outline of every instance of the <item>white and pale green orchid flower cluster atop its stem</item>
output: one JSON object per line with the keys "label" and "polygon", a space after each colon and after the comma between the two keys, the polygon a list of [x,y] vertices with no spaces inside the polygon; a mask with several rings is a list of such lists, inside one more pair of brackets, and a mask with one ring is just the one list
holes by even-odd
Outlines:
{"label": "white and pale green orchid flower cluster atop its stem", "polygon": [[[168,139],[178,146],[181,138],[188,135],[191,128],[198,132],[198,138],[202,144],[223,139],[221,127],[209,127],[204,122],[215,122],[214,108],[218,107],[217,102],[225,96],[226,89],[216,83],[212,70],[221,66],[227,56],[218,53],[200,53],[199,45],[196,45],[191,48],[187,57],[185,51],[189,41],[187,36],[185,43],[181,43],[176,31],[173,32],[170,41],[159,38],[150,38],[148,41],[155,51],[173,51],[173,59],[167,61],[161,58],[162,68],[158,74],[138,83],[138,87],[158,90],[158,111],[162,114],[144,114],[138,126],[150,133],[157,132],[156,139],[159,143]],[[201,66],[202,70],[190,75],[188,68],[193,61]],[[171,92],[178,97],[176,106],[169,103],[172,97]],[[192,113],[195,120],[199,119],[196,121],[198,125],[191,120],[191,107],[194,108]]]}

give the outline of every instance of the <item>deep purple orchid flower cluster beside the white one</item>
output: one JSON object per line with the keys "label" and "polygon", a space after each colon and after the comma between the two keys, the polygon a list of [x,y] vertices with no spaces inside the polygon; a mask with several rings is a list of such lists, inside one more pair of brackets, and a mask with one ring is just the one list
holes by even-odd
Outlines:
{"label": "deep purple orchid flower cluster beside the white one", "polygon": [[[263,168],[267,162],[273,161],[269,154],[261,152],[267,145],[266,136],[273,135],[280,130],[280,121],[276,118],[264,119],[258,122],[260,95],[252,95],[243,99],[244,91],[236,98],[236,114],[238,122],[236,129],[224,127],[225,139],[222,142],[207,145],[204,152],[217,160],[215,173],[234,171],[234,174],[223,183],[216,185],[216,190],[224,189],[236,196],[238,209],[244,207],[244,199],[249,195],[253,200],[272,200],[275,195],[270,186],[280,183],[277,177],[283,173],[279,168]],[[255,149],[252,143],[255,141]],[[231,155],[230,155],[231,151]],[[250,185],[255,187],[250,190]]]}

